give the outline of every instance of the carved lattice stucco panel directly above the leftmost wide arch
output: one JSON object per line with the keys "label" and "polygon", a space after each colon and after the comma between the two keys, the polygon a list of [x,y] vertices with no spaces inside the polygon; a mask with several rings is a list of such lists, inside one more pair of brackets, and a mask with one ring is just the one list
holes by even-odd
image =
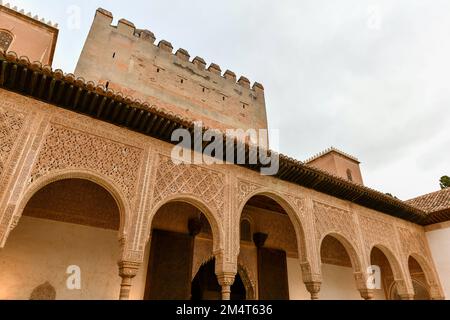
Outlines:
{"label": "carved lattice stucco panel directly above the leftmost wide arch", "polygon": [[81,169],[102,174],[136,196],[143,150],[87,132],[52,124],[33,166],[30,183],[55,170]]}

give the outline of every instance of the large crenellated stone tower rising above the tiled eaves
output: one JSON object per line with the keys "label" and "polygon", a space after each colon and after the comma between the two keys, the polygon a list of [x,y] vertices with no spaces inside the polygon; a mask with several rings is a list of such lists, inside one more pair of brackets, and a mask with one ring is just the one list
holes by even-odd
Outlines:
{"label": "large crenellated stone tower rising above the tiled eaves", "polygon": [[98,9],[75,74],[218,129],[266,129],[264,87]]}

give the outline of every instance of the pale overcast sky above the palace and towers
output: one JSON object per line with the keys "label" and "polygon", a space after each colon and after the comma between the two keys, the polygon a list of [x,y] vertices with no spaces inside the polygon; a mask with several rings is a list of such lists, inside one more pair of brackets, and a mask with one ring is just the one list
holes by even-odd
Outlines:
{"label": "pale overcast sky above the palace and towers", "polygon": [[367,186],[400,199],[438,190],[450,175],[448,0],[11,3],[59,23],[54,67],[65,72],[103,7],[261,82],[282,153],[304,160],[335,146],[360,159]]}

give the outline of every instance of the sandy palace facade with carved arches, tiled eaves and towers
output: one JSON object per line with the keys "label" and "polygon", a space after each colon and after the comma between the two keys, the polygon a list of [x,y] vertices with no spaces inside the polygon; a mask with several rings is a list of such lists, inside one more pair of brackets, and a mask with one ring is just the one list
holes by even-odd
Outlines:
{"label": "sandy palace facade with carved arches, tiled eaves and towers", "polygon": [[174,164],[194,121],[267,128],[264,87],[112,21],[71,74],[56,25],[0,5],[0,299],[450,297],[449,189],[398,200],[334,148],[272,176]]}

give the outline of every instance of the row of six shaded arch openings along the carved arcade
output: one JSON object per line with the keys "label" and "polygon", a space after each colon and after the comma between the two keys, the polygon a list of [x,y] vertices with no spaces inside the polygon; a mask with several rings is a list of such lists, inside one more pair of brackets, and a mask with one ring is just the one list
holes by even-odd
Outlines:
{"label": "row of six shaded arch openings along the carved arcade", "polygon": [[[38,190],[1,251],[0,298],[117,298],[121,289],[117,273],[120,217],[114,197],[92,181],[63,179]],[[152,219],[151,241],[134,277],[131,298],[310,298],[313,291],[301,281],[298,235],[283,206],[273,198],[256,195],[243,207],[238,271],[228,286],[215,271],[214,236],[208,218],[195,205],[186,201],[162,205]],[[348,250],[354,249],[332,235],[323,238],[321,298],[369,298],[357,287],[354,272],[359,262],[358,258],[352,261],[354,253]],[[374,247],[370,259],[380,266],[382,280],[370,298],[400,299],[386,255]],[[69,265],[80,267],[79,290],[67,288]],[[408,268],[415,298],[429,299],[426,277],[413,257]]]}

